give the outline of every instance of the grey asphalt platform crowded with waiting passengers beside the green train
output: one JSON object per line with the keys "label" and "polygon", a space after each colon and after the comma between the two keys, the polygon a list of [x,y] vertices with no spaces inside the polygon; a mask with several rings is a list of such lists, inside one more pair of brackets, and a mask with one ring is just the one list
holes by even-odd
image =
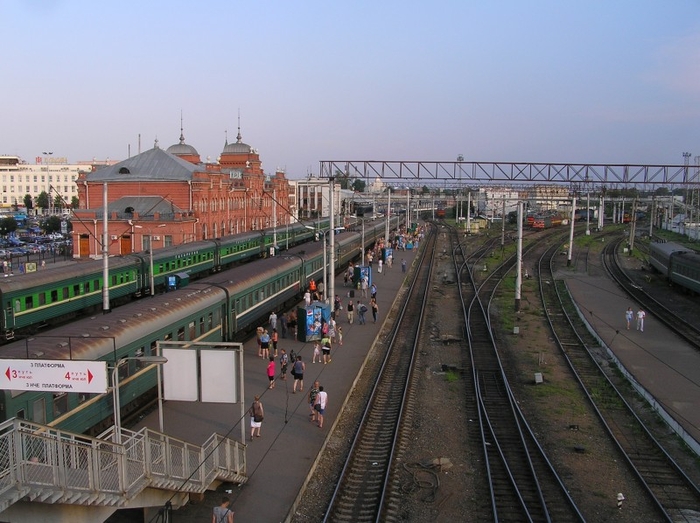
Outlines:
{"label": "grey asphalt platform crowded with waiting passengers beside the green train", "polygon": [[[294,351],[306,363],[303,392],[297,388],[297,392],[293,393],[294,381],[289,371],[286,381],[277,379],[275,388],[269,389],[266,375],[268,362],[258,356],[256,340],[251,339],[244,344],[245,405],[247,410],[253,397],[260,396],[265,411],[261,437],[250,440],[250,419],[248,416],[241,419],[239,404],[164,403],[164,430],[169,435],[195,444],[203,442],[214,432],[239,439],[243,424],[247,443],[248,482],[240,487],[224,484],[216,491],[208,491],[203,499],[174,511],[176,521],[210,522],[212,508],[221,503],[222,496],[230,498],[237,522],[285,520],[319,451],[333,430],[338,413],[377,339],[388,311],[394,306],[415,255],[415,250],[395,251],[393,267],[384,266],[382,273],[377,272],[377,265],[374,264],[373,282],[377,285],[379,305],[376,323],[372,320],[371,310],[366,313],[365,325],[358,324],[357,312],[354,323],[348,323],[347,303],[351,299],[348,296],[351,289],[343,286],[342,275],[335,279],[335,293],[341,297],[343,304],[338,319],[343,331],[343,345],[334,345],[332,361],[327,365],[312,363],[313,343],[292,340],[290,335],[286,339],[280,336],[279,348],[284,348],[287,354]],[[406,273],[402,271],[402,260],[406,260]],[[354,290],[354,294],[354,302],[359,299],[369,307],[369,297],[361,297],[358,290]],[[282,311],[275,312],[279,316]],[[308,391],[315,380],[328,393],[323,428],[309,420]],[[158,413],[153,412],[141,420],[135,430],[144,426],[158,430],[158,425]],[[109,521],[125,520],[115,515]]]}

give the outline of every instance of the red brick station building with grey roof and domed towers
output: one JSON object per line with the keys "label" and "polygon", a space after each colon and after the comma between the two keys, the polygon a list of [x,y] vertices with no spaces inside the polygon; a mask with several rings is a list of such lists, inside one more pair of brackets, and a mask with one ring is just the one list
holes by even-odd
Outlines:
{"label": "red brick station building with grey roof and domed towers", "polygon": [[258,151],[241,141],[240,129],[217,163],[203,163],[181,131],[179,143],[167,150],[156,140],[153,149],[81,173],[76,183],[76,258],[102,255],[105,184],[110,255],[149,250],[151,243],[158,249],[280,227],[292,219],[284,172],[266,175]]}

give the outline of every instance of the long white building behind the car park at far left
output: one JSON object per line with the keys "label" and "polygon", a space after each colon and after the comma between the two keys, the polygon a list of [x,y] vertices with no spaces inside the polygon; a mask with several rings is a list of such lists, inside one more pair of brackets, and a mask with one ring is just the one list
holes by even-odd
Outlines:
{"label": "long white building behind the car park at far left", "polygon": [[91,165],[69,164],[66,158],[60,157],[48,157],[43,161],[38,156],[36,162],[27,163],[19,156],[0,156],[0,207],[22,206],[25,195],[36,200],[44,191],[51,203],[60,194],[70,205],[73,196],[78,195],[75,184],[78,173],[92,169]]}

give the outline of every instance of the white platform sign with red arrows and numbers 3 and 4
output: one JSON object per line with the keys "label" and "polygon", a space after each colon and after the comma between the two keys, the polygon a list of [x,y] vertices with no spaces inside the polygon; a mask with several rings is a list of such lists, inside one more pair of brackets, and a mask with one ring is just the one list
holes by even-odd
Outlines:
{"label": "white platform sign with red arrows and numbers 3 and 4", "polygon": [[107,392],[106,361],[0,360],[0,390]]}

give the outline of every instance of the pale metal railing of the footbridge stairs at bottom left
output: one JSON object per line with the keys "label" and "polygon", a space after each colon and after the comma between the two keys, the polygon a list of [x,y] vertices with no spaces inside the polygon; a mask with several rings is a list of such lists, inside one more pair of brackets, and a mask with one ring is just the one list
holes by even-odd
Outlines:
{"label": "pale metal railing of the footbridge stairs at bottom left", "polygon": [[121,506],[146,487],[204,492],[245,483],[245,444],[213,434],[203,445],[147,428],[123,443],[12,419],[0,424],[0,512],[19,499]]}

